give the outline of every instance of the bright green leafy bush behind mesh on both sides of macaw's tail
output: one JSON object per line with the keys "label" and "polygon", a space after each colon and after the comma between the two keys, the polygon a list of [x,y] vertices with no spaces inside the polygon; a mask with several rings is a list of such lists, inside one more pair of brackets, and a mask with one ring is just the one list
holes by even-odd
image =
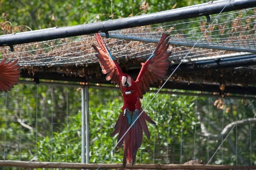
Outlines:
{"label": "bright green leafy bush behind mesh on both sides of macaw's tail", "polygon": [[[121,93],[118,91],[90,89],[89,94],[90,162],[99,163],[103,160],[105,163],[120,162],[122,161],[122,151],[114,154],[110,153],[116,144],[116,138],[109,136],[121,111]],[[147,105],[153,95],[153,93],[145,95],[142,100],[143,106]],[[152,104],[146,109],[146,112],[157,125],[149,125],[151,140],[144,137],[139,161],[152,163],[152,151],[154,149],[156,155],[163,155],[163,158],[165,158],[167,145],[172,148],[180,147],[181,134],[185,135],[193,129],[191,122],[194,123],[195,120],[194,100],[195,97],[188,96],[170,96],[168,94],[156,96]],[[80,114],[78,113],[73,117],[75,121],[72,124],[64,124],[61,127],[62,131],[54,132],[52,137],[46,136],[38,142],[37,157],[39,161],[81,161]],[[190,137],[192,135],[193,133],[191,133]],[[157,143],[157,146],[155,146],[157,149],[154,148],[153,142]],[[75,156],[70,157],[69,151]],[[175,153],[176,150],[172,149],[172,152]],[[157,163],[162,163],[160,158],[158,157],[159,161]],[[173,162],[179,161],[178,159],[173,160]]]}

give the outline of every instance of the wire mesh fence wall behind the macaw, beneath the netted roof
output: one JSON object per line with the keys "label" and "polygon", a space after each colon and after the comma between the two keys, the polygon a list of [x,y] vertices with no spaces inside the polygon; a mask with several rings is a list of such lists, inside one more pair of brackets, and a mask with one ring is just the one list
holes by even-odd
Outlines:
{"label": "wire mesh fence wall behind the macaw, beneath the netted roof", "polygon": [[[142,100],[142,107],[154,93]],[[81,162],[78,87],[23,83],[0,93],[2,160]],[[89,88],[90,163],[120,163],[109,137],[122,107],[116,90]],[[136,163],[255,165],[255,101],[158,94],[146,109],[156,122],[143,137]],[[5,167],[10,169],[10,167]]]}

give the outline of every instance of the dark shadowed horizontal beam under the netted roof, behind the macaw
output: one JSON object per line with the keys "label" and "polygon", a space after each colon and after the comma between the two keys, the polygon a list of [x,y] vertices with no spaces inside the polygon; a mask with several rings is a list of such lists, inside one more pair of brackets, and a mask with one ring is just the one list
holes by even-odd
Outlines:
{"label": "dark shadowed horizontal beam under the netted roof, behind the macaw", "polygon": [[[129,72],[132,77],[137,76],[137,70],[131,70]],[[28,74],[27,71],[22,70],[21,75],[24,78],[37,78],[37,79],[48,79],[48,80],[59,80],[59,81],[74,81],[74,82],[86,82],[86,83],[99,83],[99,84],[112,84],[110,81],[106,80],[106,75],[101,74],[101,77],[96,78],[95,75],[91,75],[90,77],[79,77],[75,75],[65,75],[60,72],[35,72],[35,74]],[[40,81],[39,81],[40,83]],[[150,87],[159,87],[161,84],[154,84]],[[168,81],[164,88],[166,89],[181,89],[181,90],[194,90],[194,91],[205,91],[205,92],[219,92],[220,84],[216,83],[193,83],[187,81]],[[248,95],[256,95],[256,87],[245,87],[238,85],[226,85],[223,91],[224,93],[232,93],[232,94],[248,94]]]}

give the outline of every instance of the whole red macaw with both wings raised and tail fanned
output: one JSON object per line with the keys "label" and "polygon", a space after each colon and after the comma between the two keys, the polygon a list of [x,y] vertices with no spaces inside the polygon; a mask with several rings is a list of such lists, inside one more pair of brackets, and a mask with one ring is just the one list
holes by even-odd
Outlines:
{"label": "whole red macaw with both wings raised and tail fanned", "polygon": [[[102,68],[102,73],[107,74],[106,80],[111,80],[112,83],[117,83],[120,86],[124,101],[122,113],[117,119],[114,131],[110,136],[112,137],[119,132],[117,139],[117,141],[119,141],[132,125],[124,138],[117,144],[118,150],[120,150],[124,143],[123,168],[125,168],[127,163],[131,163],[132,161],[133,165],[136,162],[136,153],[142,143],[142,130],[147,138],[150,139],[146,121],[154,125],[156,124],[142,110],[140,99],[143,98],[150,84],[158,80],[163,80],[167,73],[170,64],[167,58],[170,56],[171,52],[166,53],[166,50],[169,47],[168,41],[170,35],[163,33],[152,55],[145,63],[141,63],[142,67],[136,81],[134,81],[130,75],[123,74],[100,34],[94,34],[94,37],[100,46],[99,48],[92,45],[98,52],[96,57]],[[137,119],[141,112],[141,116]],[[135,122],[136,119],[137,121]]]}

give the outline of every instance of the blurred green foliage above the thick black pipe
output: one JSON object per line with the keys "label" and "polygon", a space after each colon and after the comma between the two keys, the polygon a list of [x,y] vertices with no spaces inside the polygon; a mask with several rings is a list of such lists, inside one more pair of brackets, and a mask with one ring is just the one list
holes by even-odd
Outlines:
{"label": "blurred green foliage above the thick black pipe", "polygon": [[[47,3],[37,0],[1,0],[0,11],[3,15],[0,23],[9,21],[11,25],[9,23],[7,26],[22,26],[19,28],[20,31],[29,31],[29,28],[37,30],[55,26],[72,26],[170,10],[176,3],[176,8],[180,8],[202,2],[202,0],[177,2],[175,0],[149,0],[143,4],[143,0],[48,0]],[[15,29],[15,31],[18,30]]]}

